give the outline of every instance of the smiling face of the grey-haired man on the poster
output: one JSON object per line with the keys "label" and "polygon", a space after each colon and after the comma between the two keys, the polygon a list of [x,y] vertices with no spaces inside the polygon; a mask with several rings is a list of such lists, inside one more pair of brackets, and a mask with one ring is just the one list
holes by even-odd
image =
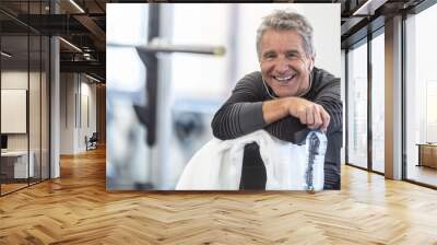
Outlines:
{"label": "smiling face of the grey-haired man on the poster", "polygon": [[267,30],[261,37],[262,78],[280,97],[298,96],[309,88],[314,57],[307,57],[296,31]]}

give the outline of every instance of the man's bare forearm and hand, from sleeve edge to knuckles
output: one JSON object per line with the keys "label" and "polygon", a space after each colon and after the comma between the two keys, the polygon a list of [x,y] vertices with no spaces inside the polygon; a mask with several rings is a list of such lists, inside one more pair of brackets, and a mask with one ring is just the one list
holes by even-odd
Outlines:
{"label": "man's bare forearm and hand, from sleeve edge to knuckles", "polygon": [[283,97],[262,103],[262,114],[267,124],[287,116],[299,118],[310,129],[327,131],[330,116],[319,104],[302,97]]}

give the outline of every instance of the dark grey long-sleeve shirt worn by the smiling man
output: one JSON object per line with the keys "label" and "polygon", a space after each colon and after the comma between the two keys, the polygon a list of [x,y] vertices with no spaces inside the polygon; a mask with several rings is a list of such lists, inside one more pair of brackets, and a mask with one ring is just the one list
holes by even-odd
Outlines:
{"label": "dark grey long-sleeve shirt worn by the smiling man", "polygon": [[[268,89],[270,94],[274,94],[270,88]],[[330,115],[331,119],[327,130],[328,149],[324,160],[326,168],[327,165],[332,165],[328,167],[332,170],[326,170],[326,175],[328,175],[326,179],[338,179],[335,182],[339,183],[340,149],[343,133],[343,107],[340,91],[340,79],[334,78],[322,69],[314,68],[311,71],[311,88],[307,94],[302,96],[323,106]],[[247,74],[238,81],[231,97],[214,115],[211,124],[214,137],[228,140],[264,129],[277,139],[299,143],[298,141],[303,137],[298,137],[298,132],[307,132],[308,130],[307,126],[300,124],[298,118],[288,116],[269,125],[264,121],[262,103],[270,100],[272,97],[262,82],[261,72],[256,71]],[[330,173],[335,176],[329,177]]]}

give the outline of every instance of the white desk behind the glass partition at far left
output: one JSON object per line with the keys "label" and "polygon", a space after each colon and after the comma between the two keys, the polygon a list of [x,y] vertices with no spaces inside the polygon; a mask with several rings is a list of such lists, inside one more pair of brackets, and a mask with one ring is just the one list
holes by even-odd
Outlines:
{"label": "white desk behind the glass partition at far left", "polygon": [[31,161],[27,168],[27,151],[1,152],[1,171],[9,178],[27,178],[27,173],[29,173],[28,177],[34,177],[35,154],[33,151],[29,151],[28,155],[31,156]]}

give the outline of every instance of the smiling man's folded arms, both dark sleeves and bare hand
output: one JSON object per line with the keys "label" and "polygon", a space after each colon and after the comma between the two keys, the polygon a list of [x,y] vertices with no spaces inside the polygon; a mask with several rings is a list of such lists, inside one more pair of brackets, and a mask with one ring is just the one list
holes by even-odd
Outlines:
{"label": "smiling man's folded arms, both dark sleeves and bare hand", "polygon": [[[315,102],[305,98],[286,97],[265,101],[262,96],[261,79],[257,72],[241,79],[231,97],[218,109],[212,121],[213,135],[227,140],[264,128],[272,136],[297,143],[295,133],[317,125],[327,128],[328,133],[342,128],[342,106],[340,101],[340,81],[327,83],[318,91]],[[262,83],[261,83],[262,84]],[[308,121],[307,112],[315,112],[320,117]],[[331,118],[333,118],[331,120]],[[319,122],[315,124],[318,120]],[[330,122],[332,121],[332,122]]]}

